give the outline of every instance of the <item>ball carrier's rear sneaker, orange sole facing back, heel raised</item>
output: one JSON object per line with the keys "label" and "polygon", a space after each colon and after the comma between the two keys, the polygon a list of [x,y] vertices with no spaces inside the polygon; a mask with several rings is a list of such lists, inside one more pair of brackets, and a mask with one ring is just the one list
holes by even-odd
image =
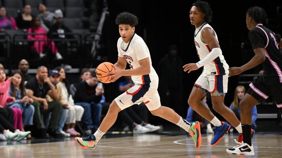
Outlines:
{"label": "ball carrier's rear sneaker, orange sole facing back, heel raised", "polygon": [[188,130],[188,137],[192,137],[194,140],[196,149],[199,149],[202,143],[202,136],[201,136],[201,127],[198,121],[192,123]]}

